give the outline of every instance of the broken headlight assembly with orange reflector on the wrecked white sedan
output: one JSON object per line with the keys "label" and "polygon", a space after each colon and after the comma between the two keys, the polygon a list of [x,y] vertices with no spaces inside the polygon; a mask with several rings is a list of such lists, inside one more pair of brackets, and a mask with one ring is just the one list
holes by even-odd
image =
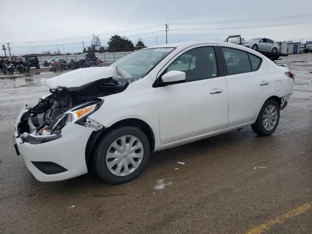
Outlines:
{"label": "broken headlight assembly with orange reflector on the wrecked white sedan", "polygon": [[[32,129],[31,117],[28,119],[28,125],[30,126],[30,134],[23,133],[20,137],[23,141],[31,144],[39,144],[51,140],[55,140],[61,137],[61,129],[69,122],[82,125],[93,130],[99,130],[103,126],[94,120],[88,118],[91,114],[98,110],[100,107],[100,101],[90,101],[80,104],[59,117],[48,119],[46,122],[39,125],[37,128]],[[52,110],[50,110],[52,111]],[[46,114],[47,118],[49,112]]]}

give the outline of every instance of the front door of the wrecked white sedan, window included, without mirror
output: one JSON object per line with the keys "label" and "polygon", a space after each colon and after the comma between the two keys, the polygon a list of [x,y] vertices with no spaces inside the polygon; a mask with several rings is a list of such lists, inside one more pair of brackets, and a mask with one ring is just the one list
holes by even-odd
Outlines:
{"label": "front door of the wrecked white sedan, window included, without mirror", "polygon": [[218,76],[213,46],[193,48],[165,69],[186,73],[182,83],[156,88],[161,144],[227,127],[228,88]]}

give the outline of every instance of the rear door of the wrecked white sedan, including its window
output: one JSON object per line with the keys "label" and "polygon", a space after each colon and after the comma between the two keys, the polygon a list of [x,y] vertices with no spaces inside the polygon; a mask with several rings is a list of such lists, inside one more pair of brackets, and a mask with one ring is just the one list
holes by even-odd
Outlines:
{"label": "rear door of the wrecked white sedan, including its window", "polygon": [[236,48],[220,47],[220,52],[229,90],[228,127],[248,123],[270,92],[265,60]]}

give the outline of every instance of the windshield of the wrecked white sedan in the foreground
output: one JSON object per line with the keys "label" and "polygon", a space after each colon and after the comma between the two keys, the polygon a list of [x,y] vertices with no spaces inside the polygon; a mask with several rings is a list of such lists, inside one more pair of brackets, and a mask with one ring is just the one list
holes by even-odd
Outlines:
{"label": "windshield of the wrecked white sedan in the foreground", "polygon": [[117,66],[133,78],[140,79],[173,50],[174,48],[169,47],[139,50],[117,60],[111,66]]}

